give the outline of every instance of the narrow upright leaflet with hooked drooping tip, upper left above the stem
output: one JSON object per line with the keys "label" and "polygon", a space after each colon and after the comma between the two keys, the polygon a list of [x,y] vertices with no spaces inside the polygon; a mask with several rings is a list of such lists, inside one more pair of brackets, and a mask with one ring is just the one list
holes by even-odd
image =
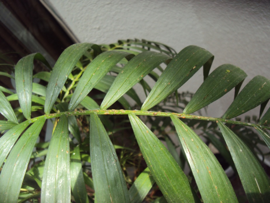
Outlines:
{"label": "narrow upright leaflet with hooked drooping tip, upper left above the stem", "polygon": [[38,59],[50,67],[46,59],[39,53],[30,54],[23,57],[15,66],[16,92],[18,94],[22,113],[27,120],[31,119],[34,59]]}

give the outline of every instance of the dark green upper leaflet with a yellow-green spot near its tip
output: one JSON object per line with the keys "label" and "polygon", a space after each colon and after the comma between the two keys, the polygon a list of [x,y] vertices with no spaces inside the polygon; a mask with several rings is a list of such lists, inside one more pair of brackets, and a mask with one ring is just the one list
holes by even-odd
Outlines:
{"label": "dark green upper leaflet with a yellow-green spot near its tip", "polygon": [[183,113],[191,114],[221,98],[243,81],[246,76],[247,74],[237,66],[231,64],[219,66],[196,91]]}

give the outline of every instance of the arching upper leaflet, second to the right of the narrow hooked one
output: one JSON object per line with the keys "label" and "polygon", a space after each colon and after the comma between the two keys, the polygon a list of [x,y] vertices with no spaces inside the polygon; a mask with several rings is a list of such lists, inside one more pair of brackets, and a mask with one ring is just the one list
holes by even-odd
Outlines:
{"label": "arching upper leaflet, second to the right of the narrow hooked one", "polygon": [[94,86],[105,76],[110,69],[122,58],[130,55],[127,52],[107,51],[98,55],[84,71],[68,106],[74,110]]}

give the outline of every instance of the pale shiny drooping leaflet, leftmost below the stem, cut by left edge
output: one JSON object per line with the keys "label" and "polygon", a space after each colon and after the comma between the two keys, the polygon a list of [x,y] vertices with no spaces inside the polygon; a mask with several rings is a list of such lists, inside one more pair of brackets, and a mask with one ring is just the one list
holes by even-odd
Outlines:
{"label": "pale shiny drooping leaflet, leftmost below the stem, cut by left edge", "polygon": [[29,124],[29,121],[20,123],[8,130],[8,132],[0,138],[0,167],[4,163],[5,158],[8,156],[9,151],[17,141],[22,131],[24,131]]}

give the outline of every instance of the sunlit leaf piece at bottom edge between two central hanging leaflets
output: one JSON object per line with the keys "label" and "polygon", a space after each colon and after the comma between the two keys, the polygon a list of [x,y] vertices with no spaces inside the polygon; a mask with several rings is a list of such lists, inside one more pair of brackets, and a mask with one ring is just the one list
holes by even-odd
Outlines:
{"label": "sunlit leaf piece at bottom edge between two central hanging leaflets", "polygon": [[155,180],[147,167],[134,181],[129,189],[129,198],[131,203],[142,202],[154,185]]}

